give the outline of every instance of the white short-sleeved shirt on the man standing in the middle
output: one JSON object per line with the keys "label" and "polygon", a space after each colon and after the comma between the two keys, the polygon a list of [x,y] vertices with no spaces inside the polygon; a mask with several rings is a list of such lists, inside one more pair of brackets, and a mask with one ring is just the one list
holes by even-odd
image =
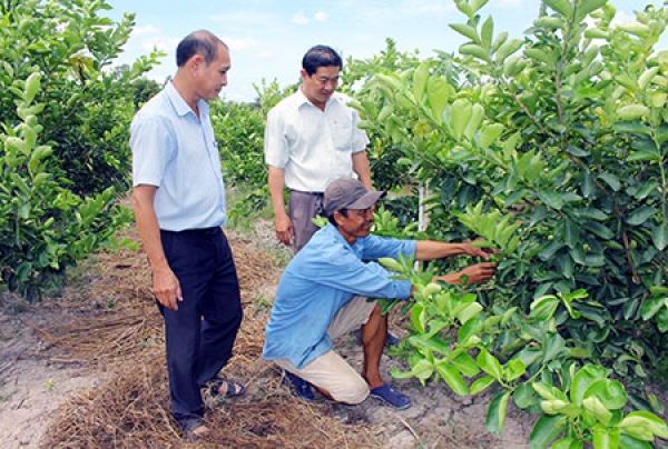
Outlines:
{"label": "white short-sleeved shirt on the man standing in the middle", "polygon": [[322,111],[302,89],[274,107],[265,128],[265,162],[285,170],[285,184],[323,192],[336,178],[355,178],[353,153],[365,151],[366,133],[350,98],[334,92]]}

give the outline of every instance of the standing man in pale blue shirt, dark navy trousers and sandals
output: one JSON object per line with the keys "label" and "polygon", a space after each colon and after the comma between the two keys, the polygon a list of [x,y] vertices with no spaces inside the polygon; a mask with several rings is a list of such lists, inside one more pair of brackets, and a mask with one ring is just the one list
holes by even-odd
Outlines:
{"label": "standing man in pale blue shirt, dark navy trousers and sandals", "polygon": [[208,429],[200,388],[235,397],[217,377],[242,322],[239,285],[225,223],[225,184],[207,101],[227,84],[227,46],[208,31],[176,49],[174,79],[130,127],[137,229],[165,320],[171,413],[190,438]]}

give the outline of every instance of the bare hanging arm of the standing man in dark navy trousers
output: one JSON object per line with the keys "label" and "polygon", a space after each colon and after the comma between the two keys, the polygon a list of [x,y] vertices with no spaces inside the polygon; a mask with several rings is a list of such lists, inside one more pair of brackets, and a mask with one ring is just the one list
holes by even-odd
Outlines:
{"label": "bare hanging arm of the standing man in dark navy trousers", "polygon": [[167,263],[163,242],[160,241],[160,227],[154,209],[156,198],[155,186],[140,184],[135,187],[132,203],[135,220],[144,250],[153,272],[153,291],[158,302],[171,310],[178,310],[177,301],[183,301],[178,279],[174,276]]}

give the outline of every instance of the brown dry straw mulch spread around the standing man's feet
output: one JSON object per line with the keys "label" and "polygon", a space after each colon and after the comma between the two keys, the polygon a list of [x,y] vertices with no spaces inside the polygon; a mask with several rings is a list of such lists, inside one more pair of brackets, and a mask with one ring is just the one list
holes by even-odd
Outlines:
{"label": "brown dry straw mulch spread around the standing man's feet", "polygon": [[[137,236],[130,231],[130,238]],[[281,268],[253,241],[230,238],[242,285],[244,322],[225,375],[247,387],[213,406],[206,441],[186,443],[169,413],[163,323],[145,255],[98,255],[91,269],[45,307],[59,319],[33,323],[53,358],[107,371],[108,382],[58,409],[45,448],[376,448],[366,426],[343,425],[331,406],[299,402],[261,358],[267,308],[258,298]]]}

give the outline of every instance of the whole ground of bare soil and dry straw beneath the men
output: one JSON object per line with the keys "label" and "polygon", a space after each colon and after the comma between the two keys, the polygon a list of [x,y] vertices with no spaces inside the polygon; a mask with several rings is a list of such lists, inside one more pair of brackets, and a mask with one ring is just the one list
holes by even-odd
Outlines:
{"label": "whole ground of bare soil and dry straw beneath the men", "polygon": [[[244,398],[213,407],[210,439],[186,445],[169,418],[159,313],[141,253],[97,255],[52,299],[28,305],[0,293],[0,448],[528,448],[534,417],[511,409],[502,436],[484,419],[491,393],[458,397],[444,383],[392,383],[409,393],[403,411],[373,399],[342,406],[294,398],[261,358],[263,329],[289,258],[271,227],[228,231],[245,319],[226,373],[245,381]],[[136,238],[130,231],[130,237]],[[404,335],[401,320],[392,331]],[[361,365],[354,338],[337,342]],[[407,369],[384,357],[392,368]]]}

